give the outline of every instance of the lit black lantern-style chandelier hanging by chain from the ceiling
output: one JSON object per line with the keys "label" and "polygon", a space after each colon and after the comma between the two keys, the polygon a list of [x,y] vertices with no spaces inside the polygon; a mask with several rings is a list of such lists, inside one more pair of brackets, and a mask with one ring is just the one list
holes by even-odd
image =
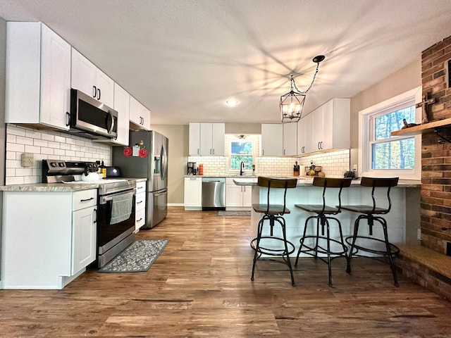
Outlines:
{"label": "lit black lantern-style chandelier hanging by chain from the ceiling", "polygon": [[313,82],[315,81],[316,74],[319,70],[319,63],[323,61],[326,56],[319,55],[313,58],[313,62],[316,63],[316,70],[313,75],[313,79],[306,91],[301,92],[296,87],[295,79],[291,75],[290,86],[291,90],[285,95],[280,96],[280,118],[282,123],[298,122],[301,119],[302,109],[304,108],[304,101],[307,92],[309,92]]}

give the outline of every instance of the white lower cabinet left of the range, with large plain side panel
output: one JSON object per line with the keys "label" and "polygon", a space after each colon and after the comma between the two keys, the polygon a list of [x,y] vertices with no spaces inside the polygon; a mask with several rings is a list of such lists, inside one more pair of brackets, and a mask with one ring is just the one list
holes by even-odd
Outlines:
{"label": "white lower cabinet left of the range, with large plain side panel", "polygon": [[3,289],[62,289],[95,260],[97,189],[3,194]]}

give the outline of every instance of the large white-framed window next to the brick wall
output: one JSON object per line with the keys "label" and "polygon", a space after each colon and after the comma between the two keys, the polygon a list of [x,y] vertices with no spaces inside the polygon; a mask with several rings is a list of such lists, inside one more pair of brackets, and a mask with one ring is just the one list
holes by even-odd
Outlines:
{"label": "large white-framed window next to the brick wall", "polygon": [[421,109],[415,108],[419,101],[421,87],[359,112],[359,175],[420,179],[421,136],[391,136],[404,126],[404,119],[419,121]]}

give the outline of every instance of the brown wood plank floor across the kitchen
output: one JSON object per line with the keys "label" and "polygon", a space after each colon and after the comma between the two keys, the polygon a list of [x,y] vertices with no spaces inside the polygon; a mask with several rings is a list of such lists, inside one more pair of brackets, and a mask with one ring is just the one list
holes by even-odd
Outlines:
{"label": "brown wood plank floor across the kitchen", "polygon": [[[389,265],[303,258],[296,287],[259,262],[249,217],[169,208],[139,239],[169,239],[147,273],[88,270],[63,290],[0,290],[0,337],[451,337],[451,303]],[[298,246],[298,244],[297,244]],[[51,262],[48,262],[51,264]]]}

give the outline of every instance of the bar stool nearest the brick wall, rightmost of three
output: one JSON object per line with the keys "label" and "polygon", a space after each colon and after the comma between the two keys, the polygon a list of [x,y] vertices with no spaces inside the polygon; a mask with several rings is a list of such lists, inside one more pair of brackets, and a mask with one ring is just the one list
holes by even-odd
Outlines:
{"label": "bar stool nearest the brick wall, rightmost of three", "polygon": [[[373,178],[373,177],[362,177],[362,180],[360,182],[360,185],[362,187],[371,187],[371,199],[373,201],[372,205],[357,205],[357,206],[342,206],[343,210],[352,211],[353,213],[360,213],[359,217],[357,217],[357,220],[355,220],[354,223],[354,234],[350,237],[346,237],[347,244],[350,244],[350,253],[348,255],[347,259],[347,273],[352,273],[351,270],[351,258],[352,256],[362,256],[359,255],[359,250],[369,252],[369,253],[375,253],[376,255],[383,255],[384,257],[388,257],[388,260],[390,261],[390,267],[392,269],[393,273],[393,281],[395,282],[395,286],[399,286],[397,282],[397,275],[396,275],[396,266],[393,261],[393,257],[397,255],[397,253],[400,252],[400,249],[395,246],[395,244],[391,244],[388,242],[388,233],[387,233],[387,221],[385,218],[383,218],[380,215],[385,215],[390,212],[390,208],[392,206],[391,199],[390,199],[390,189],[392,187],[397,186],[399,177],[384,177],[384,178]],[[376,192],[376,188],[379,189],[386,189],[387,195],[386,195],[386,201],[385,201],[385,207],[381,207],[381,194],[374,194]],[[376,202],[376,199],[378,200]],[[383,197],[385,200],[385,197]],[[377,205],[376,205],[377,204]],[[374,237],[367,237],[367,236],[360,236],[358,234],[359,232],[359,225],[360,220],[367,220],[368,226],[369,226],[369,235],[373,236],[373,225],[374,221],[378,221],[382,225],[383,229],[383,237],[384,239],[377,239]],[[369,248],[368,246],[364,246],[364,244],[356,244],[357,239],[364,239],[366,242],[372,241],[376,243],[383,243],[385,249],[373,249]],[[368,244],[366,244],[368,245]],[[355,251],[354,251],[355,249]]]}

